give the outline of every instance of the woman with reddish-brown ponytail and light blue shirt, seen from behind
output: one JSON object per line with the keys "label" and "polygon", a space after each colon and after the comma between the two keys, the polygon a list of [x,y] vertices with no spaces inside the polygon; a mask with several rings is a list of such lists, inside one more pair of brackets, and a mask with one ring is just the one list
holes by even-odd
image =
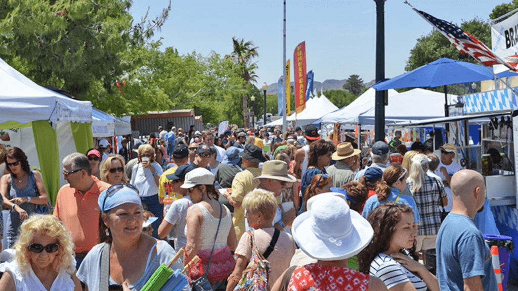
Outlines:
{"label": "woman with reddish-brown ponytail and light blue shirt, seen from behind", "polygon": [[414,212],[414,221],[417,223],[421,220],[418,212],[418,206],[412,196],[401,194],[407,186],[406,179],[408,177],[407,169],[401,167],[399,163],[392,163],[385,169],[382,181],[376,186],[376,195],[370,197],[365,202],[362,216],[367,218],[369,213],[376,207],[386,202],[394,202],[408,205]]}

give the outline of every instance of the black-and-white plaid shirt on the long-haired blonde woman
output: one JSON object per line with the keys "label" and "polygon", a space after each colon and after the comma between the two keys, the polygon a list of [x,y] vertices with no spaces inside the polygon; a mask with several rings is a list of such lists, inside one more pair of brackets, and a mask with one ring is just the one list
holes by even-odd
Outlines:
{"label": "black-and-white plaid shirt on the long-haired blonde woman", "polygon": [[[414,181],[407,179],[408,188],[412,189]],[[434,236],[441,227],[441,212],[439,199],[446,197],[444,185],[436,178],[424,176],[423,185],[413,193],[415,203],[418,206],[421,220],[418,225],[418,236]],[[451,202],[450,202],[451,203]]]}

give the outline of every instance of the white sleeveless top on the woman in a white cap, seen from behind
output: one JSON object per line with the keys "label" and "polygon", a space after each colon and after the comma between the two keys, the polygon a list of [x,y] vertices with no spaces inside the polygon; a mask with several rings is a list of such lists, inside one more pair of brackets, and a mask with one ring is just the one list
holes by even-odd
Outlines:
{"label": "white sleeveless top on the woman in a white cap, seen from behind", "polygon": [[[212,244],[214,243],[214,236],[216,235],[216,231],[218,230],[218,222],[220,220],[219,217],[214,217],[207,208],[202,203],[196,203],[191,207],[197,206],[200,211],[203,213],[203,224],[202,229],[200,229],[200,238],[198,243],[198,251],[200,250],[211,250]],[[230,210],[225,205],[222,205],[222,211],[226,211],[226,215],[223,216],[221,214],[221,225],[220,230],[218,232],[218,237],[216,238],[216,243],[214,245],[214,250],[222,248],[227,244],[228,232],[230,232],[230,228],[232,226],[232,217],[230,214]],[[187,226],[185,225],[185,236],[187,236]]]}

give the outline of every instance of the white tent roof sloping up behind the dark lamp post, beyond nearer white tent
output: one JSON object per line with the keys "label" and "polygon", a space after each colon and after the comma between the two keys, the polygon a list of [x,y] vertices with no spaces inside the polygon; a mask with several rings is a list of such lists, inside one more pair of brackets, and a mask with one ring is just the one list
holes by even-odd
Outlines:
{"label": "white tent roof sloping up behind the dark lamp post, beyond nearer white tent", "polygon": [[[390,89],[389,104],[391,97],[397,95],[397,91]],[[341,124],[356,124],[358,123],[359,115],[374,108],[376,104],[376,90],[369,88],[362,95],[359,95],[348,106],[340,108],[334,112],[325,114],[322,117],[321,123],[341,123]]]}

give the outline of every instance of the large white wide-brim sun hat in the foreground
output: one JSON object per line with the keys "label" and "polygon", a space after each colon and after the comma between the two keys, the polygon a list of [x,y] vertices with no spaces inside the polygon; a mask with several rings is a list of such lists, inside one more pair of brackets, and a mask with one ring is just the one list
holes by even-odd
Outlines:
{"label": "large white wide-brim sun hat in the foreground", "polygon": [[292,235],[300,249],[312,258],[327,261],[361,252],[374,235],[369,222],[350,210],[343,198],[326,193],[312,198],[316,197],[311,209],[293,222]]}

